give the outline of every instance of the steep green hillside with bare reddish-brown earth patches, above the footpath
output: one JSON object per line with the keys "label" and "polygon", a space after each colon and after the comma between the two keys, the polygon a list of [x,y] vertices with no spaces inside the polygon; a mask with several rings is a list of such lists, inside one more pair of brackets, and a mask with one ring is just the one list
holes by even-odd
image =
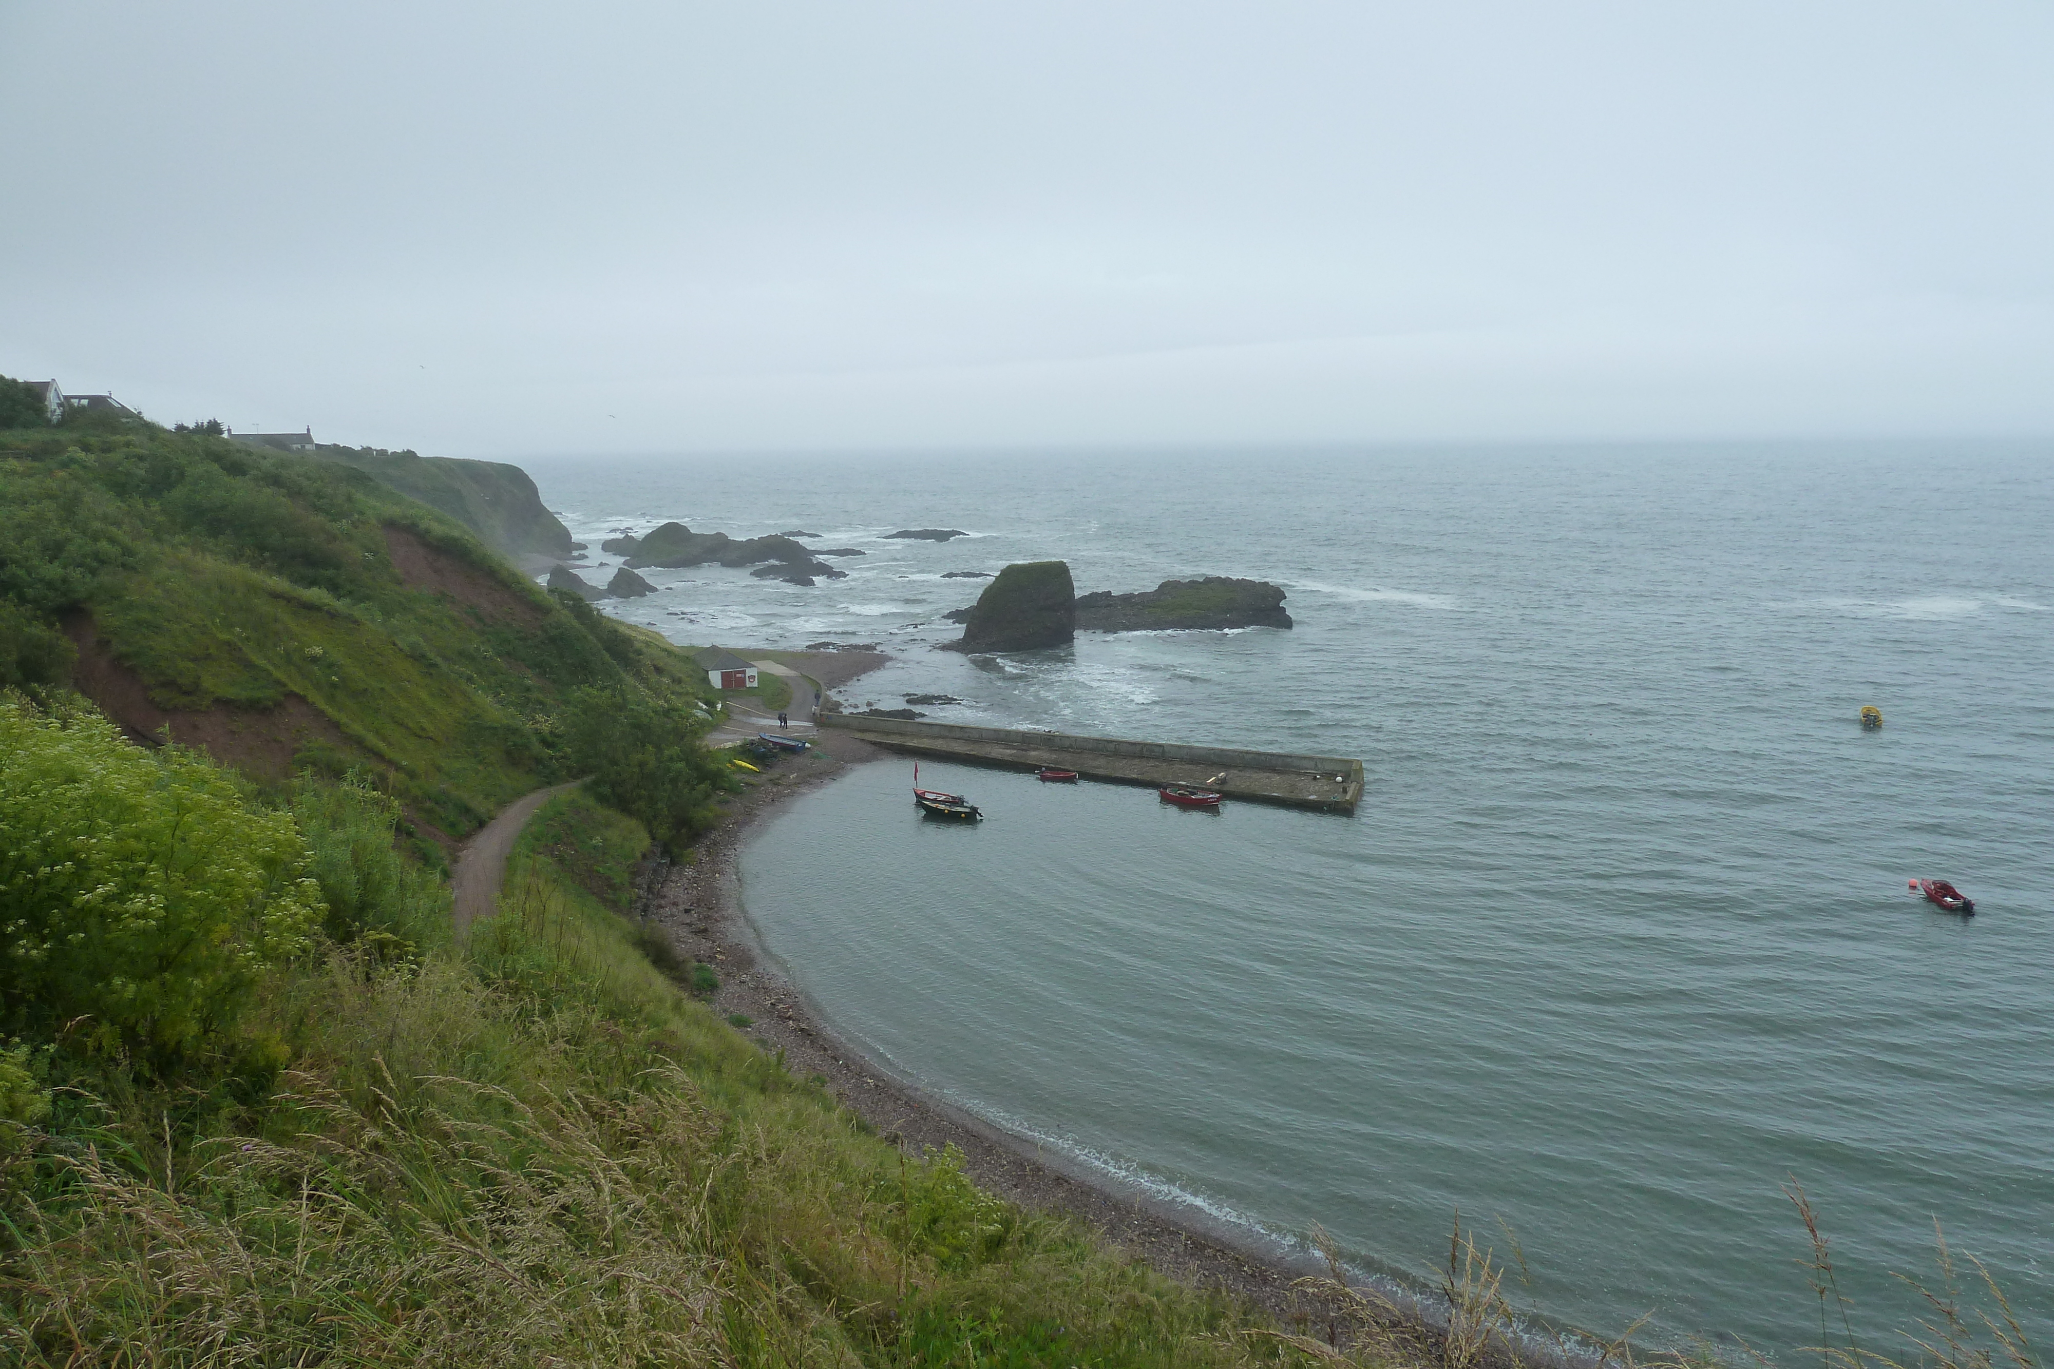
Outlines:
{"label": "steep green hillside with bare reddish-brown earth patches, above the footpath", "polygon": [[76,683],[134,735],[265,780],[366,768],[462,835],[618,700],[696,727],[702,679],[353,466],[136,421],[0,433],[0,686]]}

